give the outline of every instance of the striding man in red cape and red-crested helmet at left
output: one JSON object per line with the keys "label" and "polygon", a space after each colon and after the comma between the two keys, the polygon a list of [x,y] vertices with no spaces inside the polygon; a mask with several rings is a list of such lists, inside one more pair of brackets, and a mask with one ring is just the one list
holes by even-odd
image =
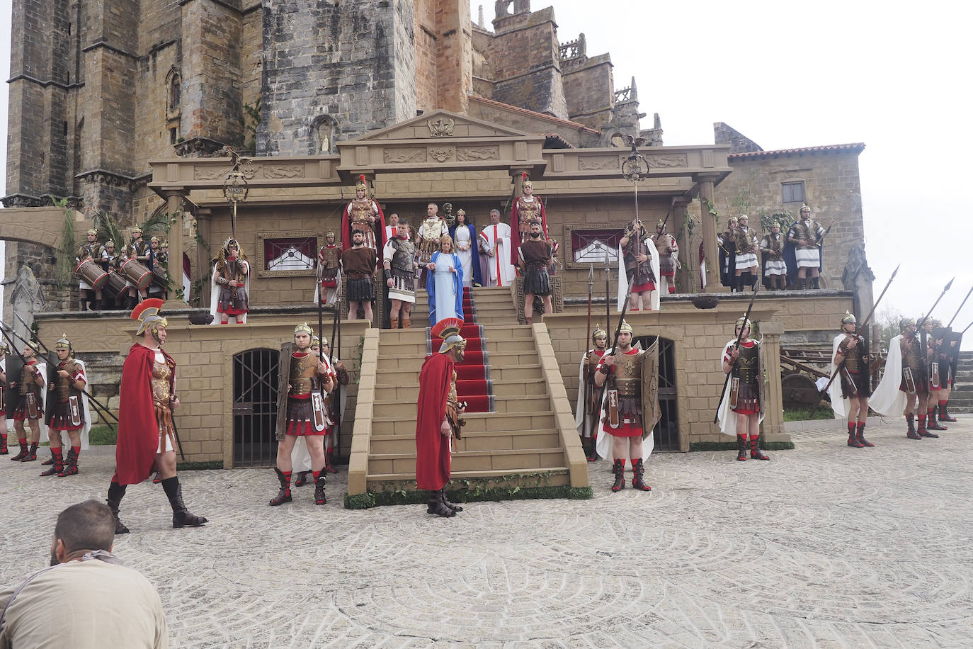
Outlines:
{"label": "striding man in red cape and red-crested helmet at left", "polygon": [[158,468],[162,488],[172,506],[173,527],[198,527],[206,523],[183,504],[182,486],[176,476],[176,438],[172,411],[179,407],[175,394],[176,363],[162,351],[165,318],[159,315],[162,300],[143,300],[131,312],[141,324],[122,366],[119,406],[119,439],[115,447],[115,475],[108,487],[108,507],[115,515],[115,533],[127,534],[119,520],[119,506],[128,485],[138,485]]}

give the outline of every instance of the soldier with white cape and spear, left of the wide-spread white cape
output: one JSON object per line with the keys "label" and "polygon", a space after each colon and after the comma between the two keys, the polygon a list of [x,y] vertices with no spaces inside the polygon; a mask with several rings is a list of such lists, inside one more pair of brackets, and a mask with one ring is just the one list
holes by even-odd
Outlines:
{"label": "soldier with white cape and spear, left of the wide-spread white cape", "polygon": [[865,439],[865,419],[868,398],[872,395],[872,371],[868,361],[865,339],[858,336],[857,320],[846,311],[842,318],[841,334],[831,345],[831,374],[839,380],[831,381],[829,394],[835,418],[847,415],[848,441],[853,449],[874,447]]}

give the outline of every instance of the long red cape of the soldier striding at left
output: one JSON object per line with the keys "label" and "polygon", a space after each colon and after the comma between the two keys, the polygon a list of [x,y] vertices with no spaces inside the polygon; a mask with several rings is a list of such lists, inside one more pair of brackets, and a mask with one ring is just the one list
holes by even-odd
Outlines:
{"label": "long red cape of the soldier striding at left", "polygon": [[134,343],[122,366],[119,439],[115,447],[119,485],[141,483],[151,475],[156,463],[159,424],[149,382],[155,353],[144,344]]}

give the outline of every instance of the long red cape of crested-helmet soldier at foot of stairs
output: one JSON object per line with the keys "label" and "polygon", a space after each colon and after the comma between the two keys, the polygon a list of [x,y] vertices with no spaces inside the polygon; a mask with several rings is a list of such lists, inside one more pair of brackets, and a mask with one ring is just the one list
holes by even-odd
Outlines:
{"label": "long red cape of crested-helmet soldier at foot of stairs", "polygon": [[438,491],[450,482],[450,443],[440,433],[446,415],[454,363],[434,353],[419,373],[418,413],[415,417],[415,485]]}

